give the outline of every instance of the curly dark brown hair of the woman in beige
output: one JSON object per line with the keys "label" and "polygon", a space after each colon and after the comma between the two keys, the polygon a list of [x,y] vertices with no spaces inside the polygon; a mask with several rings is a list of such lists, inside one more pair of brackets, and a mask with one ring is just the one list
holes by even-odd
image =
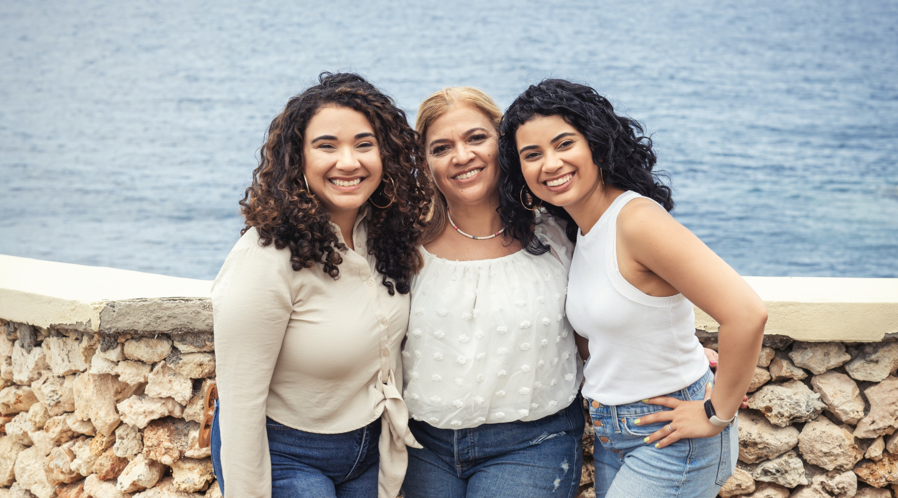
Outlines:
{"label": "curly dark brown hair of the woman in beige", "polygon": [[[374,128],[383,161],[381,186],[374,192],[372,219],[368,225],[367,249],[377,260],[383,286],[390,295],[408,294],[411,275],[423,265],[418,243],[427,226],[434,188],[418,141],[405,112],[365,78],[355,73],[328,73],[318,84],[295,95],[274,118],[260,150],[259,167],[240,202],[246,226],[259,231],[260,244],[290,250],[295,271],[321,263],[324,272],[336,279],[340,252],[348,247],[330,226],[330,212],[304,185],[303,138],[305,128],[321,107],[334,105],[364,114]],[[385,181],[390,178],[392,182]],[[391,281],[392,279],[392,281]]]}

